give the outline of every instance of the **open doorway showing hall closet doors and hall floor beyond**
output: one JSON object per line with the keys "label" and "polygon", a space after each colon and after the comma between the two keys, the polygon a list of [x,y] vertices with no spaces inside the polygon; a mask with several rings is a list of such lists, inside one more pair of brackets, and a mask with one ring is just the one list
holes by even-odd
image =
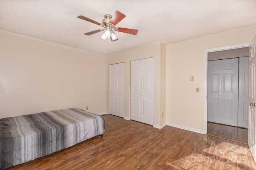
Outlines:
{"label": "open doorway showing hall closet doors and hall floor beyond", "polygon": [[208,53],[207,134],[247,143],[249,49],[217,53],[217,60]]}

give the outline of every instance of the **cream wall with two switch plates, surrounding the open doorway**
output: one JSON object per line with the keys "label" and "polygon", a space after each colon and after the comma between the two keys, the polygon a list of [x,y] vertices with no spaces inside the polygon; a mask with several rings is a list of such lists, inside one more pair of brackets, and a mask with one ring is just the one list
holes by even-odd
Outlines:
{"label": "cream wall with two switch plates, surrounding the open doorway", "polygon": [[166,124],[203,131],[204,49],[249,43],[255,34],[256,25],[166,45]]}

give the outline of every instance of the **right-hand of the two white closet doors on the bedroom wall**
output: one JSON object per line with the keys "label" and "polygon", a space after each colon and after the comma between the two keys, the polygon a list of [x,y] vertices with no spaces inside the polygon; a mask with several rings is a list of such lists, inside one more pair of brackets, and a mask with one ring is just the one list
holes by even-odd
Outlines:
{"label": "right-hand of the two white closet doors on the bedroom wall", "polygon": [[153,125],[154,58],[131,61],[131,119]]}

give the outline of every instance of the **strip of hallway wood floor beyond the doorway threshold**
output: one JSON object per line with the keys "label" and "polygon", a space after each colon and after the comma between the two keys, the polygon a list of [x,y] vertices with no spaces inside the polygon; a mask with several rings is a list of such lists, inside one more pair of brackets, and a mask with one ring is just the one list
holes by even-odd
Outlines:
{"label": "strip of hallway wood floor beyond the doorway threshold", "polygon": [[248,129],[240,127],[208,122],[207,134],[230,139],[244,144],[248,143]]}

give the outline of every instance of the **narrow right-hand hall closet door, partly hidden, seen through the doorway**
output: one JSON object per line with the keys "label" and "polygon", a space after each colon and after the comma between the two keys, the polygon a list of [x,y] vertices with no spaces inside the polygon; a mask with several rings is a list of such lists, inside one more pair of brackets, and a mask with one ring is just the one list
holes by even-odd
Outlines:
{"label": "narrow right-hand hall closet door, partly hidden, seen through the doorway", "polygon": [[248,128],[249,57],[239,58],[238,126]]}

